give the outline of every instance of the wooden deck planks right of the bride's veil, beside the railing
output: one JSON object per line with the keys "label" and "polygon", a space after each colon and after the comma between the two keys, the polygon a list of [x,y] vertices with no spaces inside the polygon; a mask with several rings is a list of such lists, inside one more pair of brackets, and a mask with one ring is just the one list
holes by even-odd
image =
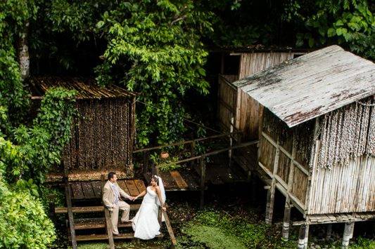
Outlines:
{"label": "wooden deck planks right of the bride's veil, beside the railing", "polygon": [[[198,176],[193,170],[172,170],[159,172],[163,179],[165,191],[199,190]],[[151,174],[144,174],[146,181],[151,179]]]}

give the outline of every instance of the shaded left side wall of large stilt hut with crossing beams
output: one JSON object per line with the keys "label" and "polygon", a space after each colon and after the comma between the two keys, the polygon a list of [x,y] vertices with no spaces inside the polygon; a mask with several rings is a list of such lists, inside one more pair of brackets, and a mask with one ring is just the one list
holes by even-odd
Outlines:
{"label": "shaded left side wall of large stilt hut with crossing beams", "polygon": [[[274,179],[277,189],[305,210],[314,122],[288,128],[267,109],[263,112],[259,167]],[[298,141],[304,141],[300,143]]]}

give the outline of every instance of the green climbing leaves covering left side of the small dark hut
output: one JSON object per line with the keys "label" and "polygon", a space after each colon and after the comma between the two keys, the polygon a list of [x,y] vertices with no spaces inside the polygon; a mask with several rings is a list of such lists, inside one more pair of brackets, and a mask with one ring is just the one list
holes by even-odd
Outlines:
{"label": "green climbing leaves covering left side of the small dark hut", "polygon": [[75,92],[63,88],[48,90],[34,120],[34,126],[13,130],[14,140],[25,157],[25,163],[8,168],[15,178],[21,175],[44,182],[49,168],[60,163],[63,146],[70,139],[75,115]]}

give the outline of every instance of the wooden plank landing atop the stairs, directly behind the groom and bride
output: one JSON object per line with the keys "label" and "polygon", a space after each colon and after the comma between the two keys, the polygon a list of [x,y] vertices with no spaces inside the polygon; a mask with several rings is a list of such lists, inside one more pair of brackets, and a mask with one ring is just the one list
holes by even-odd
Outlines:
{"label": "wooden plank landing atop the stairs, directly behind the groom and bride", "polygon": [[[144,182],[139,179],[130,180],[117,180],[118,185],[129,195],[137,196],[141,191],[146,189]],[[101,181],[75,181],[69,182],[69,187],[72,190],[73,200],[82,199],[100,199],[101,194]]]}

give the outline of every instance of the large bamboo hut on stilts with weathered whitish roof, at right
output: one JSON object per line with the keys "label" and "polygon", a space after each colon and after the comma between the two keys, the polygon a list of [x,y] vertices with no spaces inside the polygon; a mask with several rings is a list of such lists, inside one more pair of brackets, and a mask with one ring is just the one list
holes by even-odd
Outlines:
{"label": "large bamboo hut on stilts with weathered whitish roof, at right", "polygon": [[[288,60],[233,83],[260,120],[258,173],[267,183],[266,222],[274,192],[286,197],[283,236],[291,207],[303,214],[299,247],[310,224],[375,218],[375,65],[339,46]],[[241,119],[241,117],[239,117]],[[248,126],[250,127],[250,125]]]}

